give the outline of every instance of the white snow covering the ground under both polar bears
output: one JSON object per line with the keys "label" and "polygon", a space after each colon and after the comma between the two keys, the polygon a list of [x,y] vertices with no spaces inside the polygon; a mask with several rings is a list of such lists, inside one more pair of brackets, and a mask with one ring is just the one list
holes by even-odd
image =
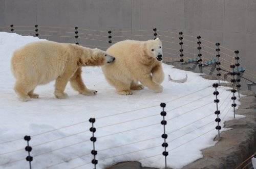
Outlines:
{"label": "white snow covering the ground under both polar bears", "polygon": [[[91,117],[96,118],[96,168],[131,160],[142,166],[163,168],[162,102],[166,103],[167,112],[168,167],[181,168],[202,158],[200,150],[217,143],[216,98],[212,94],[212,84],[217,81],[166,64],[162,93],[145,87],[134,91],[134,95],[118,95],[106,83],[100,67],[83,67],[83,81],[89,89],[98,90],[97,95],[80,95],[68,84],[65,91],[69,97],[59,100],[54,97],[51,82],[37,86],[39,99],[20,102],[13,90],[10,59],[15,49],[38,40],[44,39],[0,32],[0,168],[29,168],[25,135],[31,136],[32,168],[94,168]],[[185,83],[174,83],[168,81],[168,74],[176,80],[186,74],[188,78]],[[218,87],[221,132],[228,130],[223,128],[223,122],[233,119],[228,89]],[[236,103],[240,105],[238,100]]]}

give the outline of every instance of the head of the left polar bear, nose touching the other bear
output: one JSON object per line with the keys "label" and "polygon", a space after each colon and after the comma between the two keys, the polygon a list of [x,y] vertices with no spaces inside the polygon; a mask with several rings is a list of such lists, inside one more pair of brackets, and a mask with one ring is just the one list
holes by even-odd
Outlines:
{"label": "head of the left polar bear, nose touching the other bear", "polygon": [[80,58],[82,66],[101,66],[114,62],[115,58],[100,49],[83,50]]}

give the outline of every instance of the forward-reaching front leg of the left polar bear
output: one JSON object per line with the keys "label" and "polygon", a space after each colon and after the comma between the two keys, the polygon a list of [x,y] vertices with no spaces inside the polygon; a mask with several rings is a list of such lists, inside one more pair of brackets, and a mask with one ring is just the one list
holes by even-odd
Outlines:
{"label": "forward-reaching front leg of the left polar bear", "polygon": [[78,91],[83,95],[95,95],[98,91],[89,90],[86,85],[83,83],[81,78],[82,70],[79,67],[73,77],[70,78],[70,85],[74,90]]}

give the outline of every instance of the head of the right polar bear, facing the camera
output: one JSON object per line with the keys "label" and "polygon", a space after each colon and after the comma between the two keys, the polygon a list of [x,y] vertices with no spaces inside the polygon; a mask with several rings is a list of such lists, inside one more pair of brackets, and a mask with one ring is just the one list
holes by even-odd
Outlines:
{"label": "head of the right polar bear, facing the camera", "polygon": [[155,40],[147,40],[144,43],[145,46],[145,53],[147,56],[157,59],[158,61],[162,60],[163,51],[162,51],[162,42],[159,38]]}

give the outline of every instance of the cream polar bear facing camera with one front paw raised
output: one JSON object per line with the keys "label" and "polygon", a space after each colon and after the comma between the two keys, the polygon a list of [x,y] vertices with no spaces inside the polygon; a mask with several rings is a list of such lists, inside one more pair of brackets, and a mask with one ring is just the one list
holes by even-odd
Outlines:
{"label": "cream polar bear facing camera with one front paw raised", "polygon": [[[162,43],[155,40],[124,40],[109,47],[106,52],[116,58],[110,65],[102,66],[106,80],[118,94],[133,94],[143,86],[154,92],[162,92]],[[140,82],[141,84],[139,84]]]}

